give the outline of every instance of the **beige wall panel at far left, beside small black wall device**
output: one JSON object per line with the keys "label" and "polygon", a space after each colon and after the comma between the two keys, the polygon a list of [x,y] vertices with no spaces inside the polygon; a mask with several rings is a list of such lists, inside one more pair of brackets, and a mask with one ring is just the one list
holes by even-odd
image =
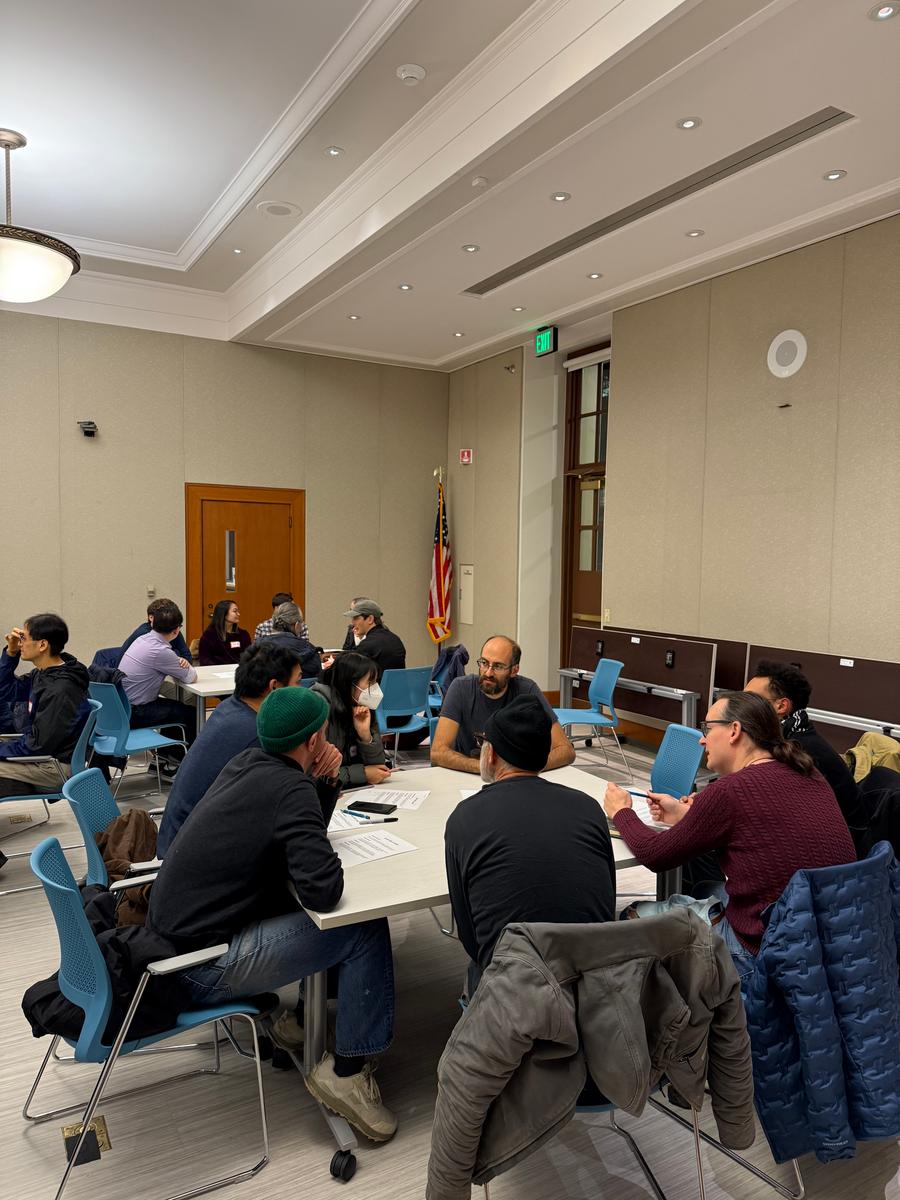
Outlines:
{"label": "beige wall panel at far left, beside small black wall device", "polygon": [[[62,610],[60,578],[59,322],[0,312],[4,528],[0,635],[25,617]],[[67,431],[74,443],[77,428]],[[73,631],[74,632],[74,631]]]}

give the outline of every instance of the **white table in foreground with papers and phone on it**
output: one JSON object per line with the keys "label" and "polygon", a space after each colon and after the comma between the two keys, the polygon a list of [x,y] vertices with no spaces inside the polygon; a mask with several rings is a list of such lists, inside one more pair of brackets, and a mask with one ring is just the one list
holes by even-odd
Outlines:
{"label": "white table in foreground with papers and phone on it", "polygon": [[[606,780],[598,779],[577,767],[560,767],[547,772],[546,779],[566,787],[576,787],[593,796],[598,804],[606,794]],[[424,767],[415,770],[397,770],[380,788],[390,791],[428,791],[431,794],[419,809],[398,809],[394,816],[400,820],[391,824],[376,824],[372,832],[390,832],[412,842],[415,851],[394,854],[390,858],[373,859],[344,871],[344,890],[341,901],[331,912],[318,912],[307,908],[310,917],[319,929],[336,929],[355,922],[374,920],[378,917],[391,917],[397,913],[414,912],[419,908],[433,908],[450,900],[444,864],[444,827],[446,818],[462,799],[463,791],[480,791],[481,779],[460,770],[448,770],[444,767]],[[338,808],[349,808],[353,797],[362,790],[344,792],[338,800]],[[360,797],[361,798],[361,797]],[[354,834],[365,833],[365,826],[359,829],[340,830],[330,834],[332,842]],[[619,838],[612,839],[616,869],[637,866],[637,859]],[[660,888],[665,884],[662,876]],[[308,1073],[322,1058],[325,1050],[325,1027],[328,1009],[328,973],[319,972],[308,976],[304,992],[304,1069]],[[322,1108],[322,1115],[340,1150],[355,1150],[356,1136],[343,1120]]]}

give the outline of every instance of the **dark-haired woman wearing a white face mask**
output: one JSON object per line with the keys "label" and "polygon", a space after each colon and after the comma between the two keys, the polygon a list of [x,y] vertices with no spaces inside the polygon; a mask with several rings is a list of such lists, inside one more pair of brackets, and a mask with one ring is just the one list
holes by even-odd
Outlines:
{"label": "dark-haired woman wearing a white face mask", "polygon": [[374,719],[382,702],[378,671],[364,654],[341,654],[312,685],[328,701],[328,739],[341,751],[343,787],[372,787],[390,775]]}

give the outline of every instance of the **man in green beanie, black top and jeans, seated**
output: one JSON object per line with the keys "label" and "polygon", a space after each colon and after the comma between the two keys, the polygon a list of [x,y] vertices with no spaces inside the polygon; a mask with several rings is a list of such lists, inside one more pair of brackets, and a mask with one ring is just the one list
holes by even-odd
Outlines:
{"label": "man in green beanie, black top and jeans, seated", "polygon": [[266,696],[257,714],[259,749],[233,758],[185,821],[150,893],[146,924],[179,953],[230,943],[215,962],[185,974],[198,1004],[340,966],[336,1054],[325,1054],[305,1082],[367,1138],[386,1141],[397,1122],[368,1057],[386,1050],[394,1032],[388,922],[320,930],[304,912],[329,912],[343,893],[328,839],[338,786],[324,800],[310,774],[337,775],[341,755],[326,740],[326,725],[328,704],[311,689]]}

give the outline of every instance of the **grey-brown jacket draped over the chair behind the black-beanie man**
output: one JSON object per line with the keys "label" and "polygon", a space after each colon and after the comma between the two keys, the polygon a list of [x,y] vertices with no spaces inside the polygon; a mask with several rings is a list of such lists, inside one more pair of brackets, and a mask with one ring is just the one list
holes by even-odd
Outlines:
{"label": "grey-brown jacket draped over the chair behind the black-beanie man", "polygon": [[[587,1060],[587,1062],[586,1062]],[[587,1078],[638,1116],[667,1075],[719,1136],[754,1141],[740,985],[694,912],[602,925],[508,925],[438,1066],[427,1200],[464,1200],[572,1116]]]}

